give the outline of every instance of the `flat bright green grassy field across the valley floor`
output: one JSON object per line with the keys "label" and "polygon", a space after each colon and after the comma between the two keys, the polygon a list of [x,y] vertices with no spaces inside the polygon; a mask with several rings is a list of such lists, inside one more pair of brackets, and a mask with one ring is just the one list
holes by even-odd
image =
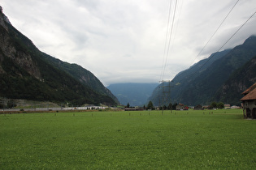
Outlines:
{"label": "flat bright green grassy field across the valley floor", "polygon": [[0,115],[1,169],[255,169],[241,109]]}

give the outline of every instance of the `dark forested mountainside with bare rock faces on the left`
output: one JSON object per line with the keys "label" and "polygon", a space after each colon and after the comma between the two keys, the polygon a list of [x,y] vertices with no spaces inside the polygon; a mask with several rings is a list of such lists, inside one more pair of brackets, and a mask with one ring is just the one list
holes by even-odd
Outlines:
{"label": "dark forested mountainside with bare rock faces on the left", "polygon": [[0,11],[0,97],[49,100],[72,105],[118,100],[81,66],[42,53]]}

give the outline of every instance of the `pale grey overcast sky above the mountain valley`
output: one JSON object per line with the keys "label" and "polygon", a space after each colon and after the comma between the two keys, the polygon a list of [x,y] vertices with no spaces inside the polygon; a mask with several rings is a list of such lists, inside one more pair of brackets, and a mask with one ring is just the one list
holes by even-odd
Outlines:
{"label": "pale grey overcast sky above the mountain valley", "polygon": [[[209,57],[256,11],[256,0],[241,0],[228,15],[235,4],[236,0],[1,0],[0,5],[11,24],[38,49],[83,66],[107,86],[173,79]],[[253,34],[256,15],[223,49]]]}

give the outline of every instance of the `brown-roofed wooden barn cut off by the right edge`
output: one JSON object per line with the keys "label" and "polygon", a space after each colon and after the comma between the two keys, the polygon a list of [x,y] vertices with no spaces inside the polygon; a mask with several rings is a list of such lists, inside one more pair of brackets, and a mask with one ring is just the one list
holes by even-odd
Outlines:
{"label": "brown-roofed wooden barn cut off by the right edge", "polygon": [[256,119],[256,83],[242,92],[241,98],[245,118]]}

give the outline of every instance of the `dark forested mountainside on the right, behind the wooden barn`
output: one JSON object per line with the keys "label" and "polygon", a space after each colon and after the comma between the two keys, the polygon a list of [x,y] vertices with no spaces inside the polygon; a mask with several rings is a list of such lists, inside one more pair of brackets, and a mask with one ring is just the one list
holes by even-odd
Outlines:
{"label": "dark forested mountainside on the right, behind the wooden barn", "polygon": [[207,105],[212,102],[241,105],[241,92],[256,82],[256,36],[242,45],[213,53],[189,69],[176,74],[169,83],[158,85],[149,100],[161,105],[163,88],[170,86],[168,102]]}

